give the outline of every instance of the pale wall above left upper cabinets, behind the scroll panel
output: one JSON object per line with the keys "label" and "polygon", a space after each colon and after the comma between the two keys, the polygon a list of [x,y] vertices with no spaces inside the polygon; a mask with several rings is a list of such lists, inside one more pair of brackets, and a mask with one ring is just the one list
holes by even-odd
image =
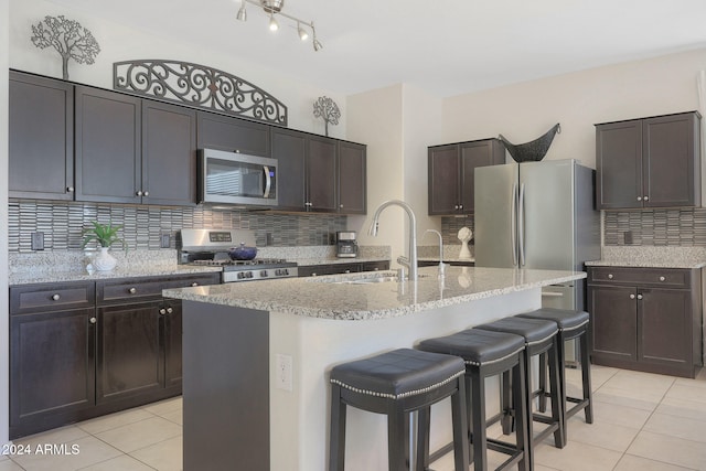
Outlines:
{"label": "pale wall above left upper cabinets, behind the scroll panel", "polygon": [[[324,133],[324,125],[321,118],[313,117],[315,99],[325,95],[333,98],[339,106],[345,101],[345,96],[295,81],[287,75],[286,71],[264,68],[233,55],[194,47],[189,43],[189,34],[184,34],[184,42],[179,43],[172,39],[149,35],[149,33],[129,25],[87,15],[82,10],[67,10],[45,0],[12,1],[10,14],[12,17],[10,67],[20,71],[62,77],[62,63],[56,51],[52,47],[38,49],[32,44],[30,38],[32,36],[32,24],[39,23],[47,14],[52,17],[63,14],[90,30],[100,45],[100,53],[97,55],[95,64],[69,62],[68,73],[69,79],[73,82],[113,88],[114,62],[137,58],[192,62],[218,68],[255,84],[287,106],[289,128],[320,135]],[[197,29],[194,29],[192,33],[197,34]],[[329,133],[332,137],[345,138],[345,113],[342,114],[339,125],[329,127]]]}

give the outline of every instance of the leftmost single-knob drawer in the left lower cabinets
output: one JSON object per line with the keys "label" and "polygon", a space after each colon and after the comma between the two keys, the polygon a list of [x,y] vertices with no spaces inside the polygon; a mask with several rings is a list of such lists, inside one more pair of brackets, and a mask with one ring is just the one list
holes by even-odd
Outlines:
{"label": "leftmost single-knob drawer in the left lower cabinets", "polygon": [[47,283],[10,288],[10,313],[89,308],[95,304],[93,282]]}

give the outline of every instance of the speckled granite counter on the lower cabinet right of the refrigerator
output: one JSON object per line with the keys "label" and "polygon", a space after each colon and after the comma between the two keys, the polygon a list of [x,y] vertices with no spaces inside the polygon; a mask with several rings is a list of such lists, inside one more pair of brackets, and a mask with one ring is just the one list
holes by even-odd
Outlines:
{"label": "speckled granite counter on the lower cabinet right of the refrigerator", "polygon": [[704,268],[706,247],[606,246],[588,267]]}

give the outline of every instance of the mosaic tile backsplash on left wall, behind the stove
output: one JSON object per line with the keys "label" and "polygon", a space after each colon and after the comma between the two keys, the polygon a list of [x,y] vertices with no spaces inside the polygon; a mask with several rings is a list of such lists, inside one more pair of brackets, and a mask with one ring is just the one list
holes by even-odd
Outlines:
{"label": "mosaic tile backsplash on left wall, behind the stove", "polygon": [[331,234],[346,228],[346,217],[339,215],[11,200],[9,250],[33,251],[36,232],[44,234],[45,251],[79,249],[82,229],[92,221],[122,225],[119,235],[132,250],[159,249],[165,234],[175,248],[176,232],[191,227],[253,229],[259,247],[329,245]]}

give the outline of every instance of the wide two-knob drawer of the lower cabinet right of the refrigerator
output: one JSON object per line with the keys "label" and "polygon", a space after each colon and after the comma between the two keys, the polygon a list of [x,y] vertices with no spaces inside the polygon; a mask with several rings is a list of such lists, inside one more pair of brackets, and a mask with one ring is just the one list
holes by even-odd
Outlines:
{"label": "wide two-knob drawer of the lower cabinet right of the refrigerator", "polygon": [[689,288],[692,270],[680,268],[588,267],[588,282]]}

